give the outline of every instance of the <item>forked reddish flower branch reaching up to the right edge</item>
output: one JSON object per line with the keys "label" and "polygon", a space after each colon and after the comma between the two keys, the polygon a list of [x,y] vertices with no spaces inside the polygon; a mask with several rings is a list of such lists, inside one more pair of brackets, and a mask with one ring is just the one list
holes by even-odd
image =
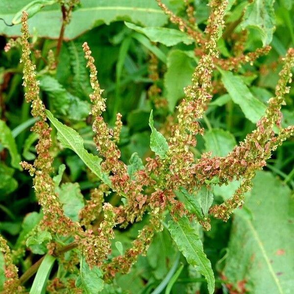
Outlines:
{"label": "forked reddish flower branch reaching up to the right edge", "polygon": [[[235,147],[231,153],[224,158],[212,159],[218,162],[218,166],[212,165],[212,174],[218,174],[221,182],[232,180],[233,176],[237,178],[243,176],[240,187],[236,190],[234,196],[226,200],[221,205],[216,205],[210,209],[210,213],[223,220],[229,218],[230,213],[243,204],[244,193],[251,188],[251,179],[255,172],[261,170],[266,165],[266,160],[270,158],[271,151],[278,145],[293,135],[294,126],[280,129],[277,137],[274,136],[273,126],[280,127],[281,123],[281,105],[285,104],[284,95],[289,93],[288,82],[292,80],[291,69],[294,66],[294,49],[289,49],[284,59],[284,67],[279,73],[280,79],[275,89],[275,97],[270,98],[266,114],[257,122],[256,130],[247,135],[240,146]],[[202,167],[203,168],[203,167]]]}

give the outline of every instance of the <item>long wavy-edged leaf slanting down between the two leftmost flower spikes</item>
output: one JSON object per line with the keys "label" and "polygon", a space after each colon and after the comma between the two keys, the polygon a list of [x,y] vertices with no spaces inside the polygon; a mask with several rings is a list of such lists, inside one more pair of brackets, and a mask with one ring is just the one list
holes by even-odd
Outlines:
{"label": "long wavy-edged leaf slanting down between the two leftmost flower spikes", "polygon": [[100,163],[101,158],[89,153],[83,145],[82,137],[71,127],[60,123],[55,119],[49,110],[46,110],[47,117],[50,122],[57,129],[57,137],[63,147],[72,149],[79,158],[85,163],[85,165],[95,174],[98,178],[111,187],[111,181],[105,172],[101,171]]}

